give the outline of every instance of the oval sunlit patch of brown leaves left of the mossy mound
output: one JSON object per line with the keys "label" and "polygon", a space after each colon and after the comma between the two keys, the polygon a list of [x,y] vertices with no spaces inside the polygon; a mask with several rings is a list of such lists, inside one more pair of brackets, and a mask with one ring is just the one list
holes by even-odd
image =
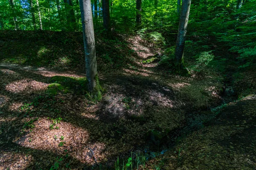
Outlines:
{"label": "oval sunlit patch of brown leaves left of the mossy mound", "polygon": [[10,91],[12,93],[30,94],[35,91],[46,90],[47,86],[48,84],[44,82],[38,82],[31,79],[23,79],[6,85],[6,91]]}

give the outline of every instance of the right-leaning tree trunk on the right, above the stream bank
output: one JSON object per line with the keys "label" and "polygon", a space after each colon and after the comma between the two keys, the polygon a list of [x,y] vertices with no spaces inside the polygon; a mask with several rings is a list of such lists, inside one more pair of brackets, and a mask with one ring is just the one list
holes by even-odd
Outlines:
{"label": "right-leaning tree trunk on the right, above the stream bank", "polygon": [[175,48],[175,62],[177,70],[184,69],[183,54],[185,47],[185,37],[189,21],[189,10],[191,0],[183,0],[180,14],[180,24],[177,34],[176,48]]}

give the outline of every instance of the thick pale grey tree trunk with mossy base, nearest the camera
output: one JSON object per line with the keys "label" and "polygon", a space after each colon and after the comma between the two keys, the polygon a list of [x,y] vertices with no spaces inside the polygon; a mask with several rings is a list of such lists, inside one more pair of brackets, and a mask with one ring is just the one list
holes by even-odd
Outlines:
{"label": "thick pale grey tree trunk with mossy base, nearest the camera", "polygon": [[99,98],[100,86],[97,77],[96,50],[93,30],[93,14],[90,0],[79,0],[84,37],[84,52],[88,89],[92,97]]}

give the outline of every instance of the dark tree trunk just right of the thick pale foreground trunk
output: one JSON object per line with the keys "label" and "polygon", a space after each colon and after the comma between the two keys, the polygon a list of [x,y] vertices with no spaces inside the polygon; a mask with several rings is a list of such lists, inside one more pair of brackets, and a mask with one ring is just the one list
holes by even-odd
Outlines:
{"label": "dark tree trunk just right of the thick pale foreground trunk", "polygon": [[102,0],[103,26],[107,39],[113,40],[110,25],[109,0]]}

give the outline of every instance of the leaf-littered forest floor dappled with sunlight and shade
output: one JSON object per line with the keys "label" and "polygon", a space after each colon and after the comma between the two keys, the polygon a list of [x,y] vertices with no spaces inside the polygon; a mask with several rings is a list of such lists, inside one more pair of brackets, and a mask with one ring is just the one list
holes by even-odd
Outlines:
{"label": "leaf-littered forest floor dappled with sunlight and shade", "polygon": [[48,92],[53,77],[84,73],[0,65],[0,169],[114,169],[131,153],[145,169],[256,168],[256,96],[221,105],[222,76],[169,74],[142,63],[160,49],[126,41],[136,65],[99,71],[100,102]]}

